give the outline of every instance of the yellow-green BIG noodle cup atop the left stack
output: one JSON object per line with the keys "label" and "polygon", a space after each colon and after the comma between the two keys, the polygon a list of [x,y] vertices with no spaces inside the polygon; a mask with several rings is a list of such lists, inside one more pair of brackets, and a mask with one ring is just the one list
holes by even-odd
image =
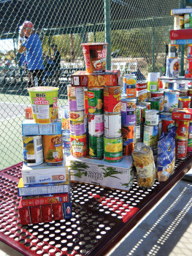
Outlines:
{"label": "yellow-green BIG noodle cup atop the left stack", "polygon": [[28,89],[34,121],[49,124],[58,116],[58,87],[39,86]]}

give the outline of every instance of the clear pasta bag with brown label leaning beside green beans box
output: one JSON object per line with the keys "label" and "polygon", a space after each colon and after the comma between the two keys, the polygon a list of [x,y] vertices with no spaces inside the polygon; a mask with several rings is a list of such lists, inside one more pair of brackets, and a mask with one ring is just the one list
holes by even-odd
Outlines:
{"label": "clear pasta bag with brown label leaning beside green beans box", "polygon": [[137,143],[132,152],[134,167],[137,170],[137,184],[142,189],[153,187],[155,182],[155,162],[153,151],[145,143]]}

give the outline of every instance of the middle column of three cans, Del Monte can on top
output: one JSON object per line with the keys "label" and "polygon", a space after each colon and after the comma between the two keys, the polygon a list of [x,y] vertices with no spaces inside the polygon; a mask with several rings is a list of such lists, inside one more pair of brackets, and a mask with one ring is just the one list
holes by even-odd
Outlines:
{"label": "middle column of three cans, Del Monte can on top", "polygon": [[104,89],[88,88],[89,156],[104,156]]}

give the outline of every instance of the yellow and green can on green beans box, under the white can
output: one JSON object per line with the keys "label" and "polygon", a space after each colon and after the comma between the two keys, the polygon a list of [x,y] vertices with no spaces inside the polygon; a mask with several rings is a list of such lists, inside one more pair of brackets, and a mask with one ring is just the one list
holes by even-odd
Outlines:
{"label": "yellow and green can on green beans box, under the white can", "polygon": [[104,160],[120,162],[123,159],[123,138],[104,137]]}

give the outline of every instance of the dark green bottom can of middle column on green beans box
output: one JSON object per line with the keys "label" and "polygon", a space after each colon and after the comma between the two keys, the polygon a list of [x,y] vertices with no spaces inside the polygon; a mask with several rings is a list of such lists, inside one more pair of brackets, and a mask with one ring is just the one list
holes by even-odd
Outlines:
{"label": "dark green bottom can of middle column on green beans box", "polygon": [[104,137],[88,135],[89,155],[93,158],[104,157]]}

